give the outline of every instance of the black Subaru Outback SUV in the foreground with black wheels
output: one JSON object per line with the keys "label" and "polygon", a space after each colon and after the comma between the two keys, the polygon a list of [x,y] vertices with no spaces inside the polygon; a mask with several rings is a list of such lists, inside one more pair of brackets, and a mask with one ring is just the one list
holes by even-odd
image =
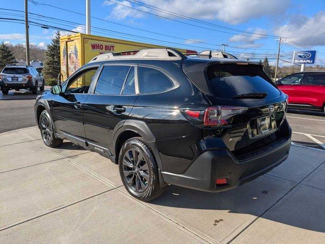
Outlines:
{"label": "black Subaru Outback SUV in the foreground with black wheels", "polygon": [[143,201],[168,184],[220,192],[266,173],[289,153],[287,96],[260,63],[206,54],[96,56],[38,97],[44,143],[68,139],[109,158]]}

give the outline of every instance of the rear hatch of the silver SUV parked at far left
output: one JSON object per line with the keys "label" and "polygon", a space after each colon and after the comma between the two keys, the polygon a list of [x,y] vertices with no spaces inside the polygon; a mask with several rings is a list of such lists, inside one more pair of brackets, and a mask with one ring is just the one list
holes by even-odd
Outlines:
{"label": "rear hatch of the silver SUV parked at far left", "polygon": [[26,68],[20,67],[5,67],[1,73],[2,80],[5,83],[26,82],[29,78],[29,72]]}

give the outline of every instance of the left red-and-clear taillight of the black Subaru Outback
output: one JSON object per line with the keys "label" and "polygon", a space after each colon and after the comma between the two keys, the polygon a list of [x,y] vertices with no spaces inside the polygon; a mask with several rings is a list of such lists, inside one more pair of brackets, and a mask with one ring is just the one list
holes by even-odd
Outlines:
{"label": "left red-and-clear taillight of the black Subaru Outback", "polygon": [[202,127],[221,127],[231,124],[231,118],[246,112],[248,108],[237,106],[214,106],[205,110],[184,109],[186,117],[194,124]]}

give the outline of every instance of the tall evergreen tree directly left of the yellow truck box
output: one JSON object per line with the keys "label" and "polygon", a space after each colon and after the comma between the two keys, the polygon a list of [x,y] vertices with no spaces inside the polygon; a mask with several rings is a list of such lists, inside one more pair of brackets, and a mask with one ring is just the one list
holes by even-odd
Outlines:
{"label": "tall evergreen tree directly left of the yellow truck box", "polygon": [[60,31],[55,33],[50,45],[47,46],[44,62],[44,79],[50,81],[57,79],[60,73]]}

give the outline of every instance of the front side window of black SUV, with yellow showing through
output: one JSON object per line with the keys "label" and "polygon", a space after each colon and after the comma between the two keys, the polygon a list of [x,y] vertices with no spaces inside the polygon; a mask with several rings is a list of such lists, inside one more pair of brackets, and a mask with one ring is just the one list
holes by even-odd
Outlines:
{"label": "front side window of black SUV, with yellow showing through", "polygon": [[66,93],[88,93],[89,86],[98,67],[83,70],[69,80]]}

